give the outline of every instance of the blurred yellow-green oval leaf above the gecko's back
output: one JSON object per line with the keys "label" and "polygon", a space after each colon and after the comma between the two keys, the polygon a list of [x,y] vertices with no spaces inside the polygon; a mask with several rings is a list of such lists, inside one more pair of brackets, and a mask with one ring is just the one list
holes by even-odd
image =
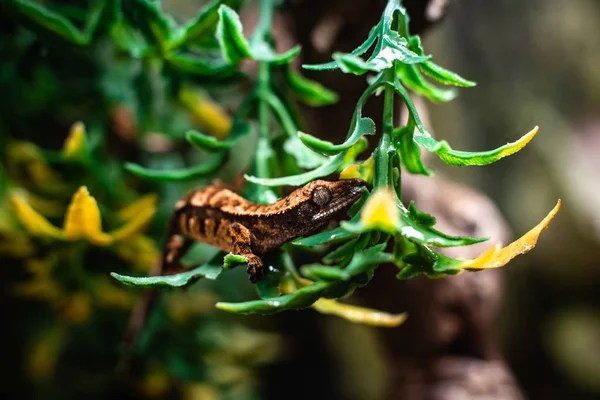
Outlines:
{"label": "blurred yellow-green oval leaf above the gecko's back", "polygon": [[231,118],[221,106],[185,88],[180,90],[179,99],[207,133],[219,139],[227,137],[231,129]]}

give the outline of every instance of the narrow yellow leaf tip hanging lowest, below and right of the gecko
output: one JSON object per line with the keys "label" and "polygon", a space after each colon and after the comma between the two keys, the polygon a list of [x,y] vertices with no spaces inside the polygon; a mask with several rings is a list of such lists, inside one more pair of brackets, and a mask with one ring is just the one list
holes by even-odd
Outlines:
{"label": "narrow yellow leaf tip hanging lowest, below and right of the gecko", "polygon": [[339,303],[330,299],[319,299],[312,306],[322,314],[331,314],[357,324],[393,328],[406,321],[407,314],[390,314],[371,308]]}

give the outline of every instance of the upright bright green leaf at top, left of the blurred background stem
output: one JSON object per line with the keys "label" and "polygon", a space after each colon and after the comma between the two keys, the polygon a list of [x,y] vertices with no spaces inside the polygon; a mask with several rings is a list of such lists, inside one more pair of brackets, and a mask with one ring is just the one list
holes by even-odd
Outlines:
{"label": "upright bright green leaf at top, left of the blurred background stem", "polygon": [[219,7],[217,40],[219,41],[223,56],[232,65],[237,65],[243,58],[252,56],[248,41],[243,34],[240,17],[233,9],[226,5]]}

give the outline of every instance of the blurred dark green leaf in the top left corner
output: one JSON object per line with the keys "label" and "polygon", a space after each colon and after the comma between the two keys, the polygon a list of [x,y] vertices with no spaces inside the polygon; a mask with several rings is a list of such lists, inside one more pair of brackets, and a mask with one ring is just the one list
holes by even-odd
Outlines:
{"label": "blurred dark green leaf in the top left corner", "polygon": [[82,32],[71,21],[62,15],[43,7],[39,3],[26,0],[14,0],[11,6],[21,15],[63,39],[78,45],[88,45],[98,27],[98,22],[104,11],[106,0],[97,1],[88,13],[85,30]]}

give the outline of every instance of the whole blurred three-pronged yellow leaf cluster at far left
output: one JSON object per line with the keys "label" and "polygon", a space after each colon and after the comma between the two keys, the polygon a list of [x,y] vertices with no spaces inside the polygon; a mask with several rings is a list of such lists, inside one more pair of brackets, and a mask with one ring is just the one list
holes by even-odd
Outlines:
{"label": "whole blurred three-pronged yellow leaf cluster at far left", "polygon": [[[156,211],[156,199],[142,198],[142,206],[132,205],[137,212],[126,213],[129,217],[124,225],[110,233],[102,231],[100,210],[96,199],[82,186],[73,196],[67,208],[63,228],[52,225],[44,216],[35,211],[22,193],[13,191],[10,200],[16,216],[23,227],[32,235],[58,240],[87,240],[98,246],[108,246],[116,241],[128,239],[140,232],[150,222]],[[135,204],[135,203],[134,203]]]}

